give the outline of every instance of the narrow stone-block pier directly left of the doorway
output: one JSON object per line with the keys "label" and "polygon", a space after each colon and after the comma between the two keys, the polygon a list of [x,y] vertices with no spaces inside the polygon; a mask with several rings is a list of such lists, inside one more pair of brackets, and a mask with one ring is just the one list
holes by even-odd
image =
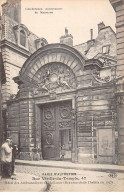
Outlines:
{"label": "narrow stone-block pier directly left of the doorway", "polygon": [[20,101],[20,159],[32,160],[35,146],[34,105],[32,101]]}

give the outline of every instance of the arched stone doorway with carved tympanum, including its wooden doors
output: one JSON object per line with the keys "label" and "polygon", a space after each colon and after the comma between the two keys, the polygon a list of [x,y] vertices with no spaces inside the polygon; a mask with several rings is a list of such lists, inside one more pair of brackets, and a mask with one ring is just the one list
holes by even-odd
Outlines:
{"label": "arched stone doorway with carved tympanum, including its wooden doors", "polygon": [[57,160],[64,145],[65,158],[75,161],[77,129],[72,115],[84,63],[74,48],[51,44],[37,50],[23,65],[15,78],[20,88],[21,159],[31,159],[33,149],[38,148],[43,159]]}

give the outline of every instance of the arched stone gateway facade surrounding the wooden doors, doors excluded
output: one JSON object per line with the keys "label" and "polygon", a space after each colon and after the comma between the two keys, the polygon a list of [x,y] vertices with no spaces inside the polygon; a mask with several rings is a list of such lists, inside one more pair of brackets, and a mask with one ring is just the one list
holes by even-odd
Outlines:
{"label": "arched stone gateway facade surrounding the wooden doors, doors excluded", "polygon": [[[72,161],[117,162],[115,80],[111,76],[100,77],[102,66],[99,60],[86,60],[63,44],[44,46],[28,58],[14,79],[19,93],[8,105],[9,133],[19,132],[21,159],[33,159],[34,147],[39,148],[41,155],[40,107],[70,100]],[[102,137],[104,146],[98,137]]]}

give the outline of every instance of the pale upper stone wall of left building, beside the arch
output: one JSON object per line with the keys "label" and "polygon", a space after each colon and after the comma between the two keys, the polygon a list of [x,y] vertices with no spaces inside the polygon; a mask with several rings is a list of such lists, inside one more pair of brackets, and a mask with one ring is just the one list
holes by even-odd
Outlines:
{"label": "pale upper stone wall of left building, beside the arch", "polygon": [[13,52],[9,48],[2,49],[3,62],[7,82],[2,86],[3,102],[8,100],[11,95],[17,94],[18,85],[13,81],[13,77],[18,76],[19,71],[27,57]]}

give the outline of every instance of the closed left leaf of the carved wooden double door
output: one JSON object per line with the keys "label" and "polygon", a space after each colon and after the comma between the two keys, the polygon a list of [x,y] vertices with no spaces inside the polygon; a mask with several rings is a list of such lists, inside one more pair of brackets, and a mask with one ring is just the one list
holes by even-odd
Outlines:
{"label": "closed left leaf of the carved wooden double door", "polygon": [[42,108],[42,155],[43,159],[58,159],[60,156],[55,104]]}

